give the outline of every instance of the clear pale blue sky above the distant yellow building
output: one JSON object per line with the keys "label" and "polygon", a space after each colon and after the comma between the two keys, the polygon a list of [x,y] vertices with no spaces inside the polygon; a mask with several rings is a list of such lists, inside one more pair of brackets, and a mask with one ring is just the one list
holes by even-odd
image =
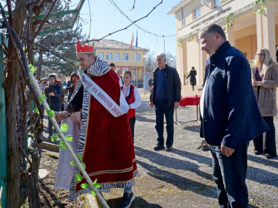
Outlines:
{"label": "clear pale blue sky above the distant yellow building", "polygon": [[[113,33],[122,28],[126,28],[131,24],[131,21],[124,17],[115,6],[111,3],[115,2],[117,6],[129,17],[132,21],[145,17],[161,0],[137,0],[133,8],[133,0],[85,0],[80,12],[80,17],[83,25],[83,34],[90,33],[90,40],[100,39],[109,33]],[[172,7],[177,5],[181,0],[163,0],[148,17],[138,21],[136,24],[144,28],[150,33],[156,35],[174,35],[172,37],[164,37],[165,53],[170,51],[172,55],[176,55],[176,37],[175,37],[175,17],[174,15],[167,15]],[[89,3],[90,2],[90,6]],[[76,8],[76,3],[79,0],[72,0],[72,8]],[[75,5],[75,6],[74,6]],[[90,9],[89,9],[90,8]],[[91,13],[91,27],[90,27],[90,13]],[[164,52],[163,37],[156,37],[140,30],[140,28],[132,25],[124,31],[114,33],[106,37],[106,40],[117,40],[126,44],[131,43],[132,34],[134,34],[134,44],[136,42],[136,30],[138,31],[138,47],[148,49],[151,53]]]}

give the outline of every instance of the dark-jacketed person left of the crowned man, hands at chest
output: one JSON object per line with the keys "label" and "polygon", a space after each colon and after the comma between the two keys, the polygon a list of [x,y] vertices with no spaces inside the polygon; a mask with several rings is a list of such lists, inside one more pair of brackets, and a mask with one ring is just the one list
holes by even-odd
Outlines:
{"label": "dark-jacketed person left of the crowned man, hands at chest", "polygon": [[[61,111],[61,101],[60,97],[62,96],[62,89],[60,85],[56,82],[56,77],[54,74],[49,75],[49,83],[44,85],[44,93],[47,96],[47,103],[51,110],[54,112]],[[50,137],[52,136],[52,122],[48,117],[48,130],[49,137],[47,137],[47,141],[50,141]]]}

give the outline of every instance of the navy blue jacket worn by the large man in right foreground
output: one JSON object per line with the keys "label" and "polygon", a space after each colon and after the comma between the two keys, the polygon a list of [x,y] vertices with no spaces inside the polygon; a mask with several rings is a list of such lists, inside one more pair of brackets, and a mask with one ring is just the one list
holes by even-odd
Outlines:
{"label": "navy blue jacket worn by the large man in right foreground", "polygon": [[208,144],[235,148],[268,130],[256,103],[250,71],[243,53],[229,42],[206,60],[200,136]]}

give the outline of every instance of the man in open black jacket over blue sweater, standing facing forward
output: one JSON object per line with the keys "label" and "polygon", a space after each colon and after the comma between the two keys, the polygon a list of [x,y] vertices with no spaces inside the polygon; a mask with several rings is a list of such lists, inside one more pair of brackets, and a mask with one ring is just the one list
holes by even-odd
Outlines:
{"label": "man in open black jacket over blue sweater, standing facing forward", "polygon": [[149,107],[156,110],[156,132],[158,135],[157,144],[154,150],[161,150],[164,147],[163,122],[164,114],[166,118],[166,151],[172,150],[174,142],[174,110],[179,107],[181,98],[181,80],[177,70],[166,64],[165,53],[156,55],[158,67],[154,69],[154,87],[149,97]]}

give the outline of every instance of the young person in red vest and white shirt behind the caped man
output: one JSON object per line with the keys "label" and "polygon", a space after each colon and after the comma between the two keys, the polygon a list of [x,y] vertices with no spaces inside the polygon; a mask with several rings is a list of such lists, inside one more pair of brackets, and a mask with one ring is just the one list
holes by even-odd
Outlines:
{"label": "young person in red vest and white shirt behind the caped man", "polygon": [[131,71],[124,71],[124,85],[121,87],[124,98],[126,98],[127,104],[129,104],[129,111],[127,115],[129,116],[129,123],[131,125],[131,134],[134,144],[134,126],[136,122],[135,109],[141,105],[141,97],[138,92],[137,87],[131,85]]}

